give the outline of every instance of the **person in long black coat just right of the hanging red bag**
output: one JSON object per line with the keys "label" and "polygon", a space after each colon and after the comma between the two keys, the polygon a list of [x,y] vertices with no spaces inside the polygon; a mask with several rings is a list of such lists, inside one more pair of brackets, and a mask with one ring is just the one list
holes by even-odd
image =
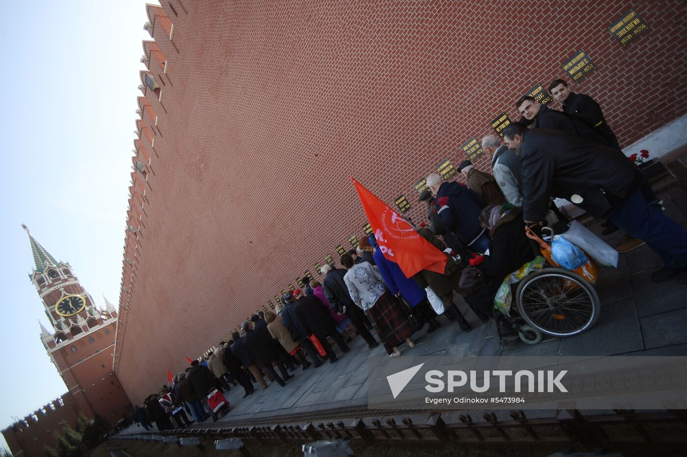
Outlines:
{"label": "person in long black coat just right of the hanging red bag", "polygon": [[337,362],[339,359],[327,341],[327,337],[330,336],[337,343],[341,352],[347,353],[349,349],[346,341],[341,337],[341,333],[337,331],[336,323],[329,313],[325,311],[326,305],[322,303],[322,300],[317,295],[306,296],[300,289],[293,291],[293,298],[296,300],[293,312],[295,312],[302,329],[304,329],[308,336],[317,336],[319,342],[322,343],[324,351],[327,353],[330,364]]}

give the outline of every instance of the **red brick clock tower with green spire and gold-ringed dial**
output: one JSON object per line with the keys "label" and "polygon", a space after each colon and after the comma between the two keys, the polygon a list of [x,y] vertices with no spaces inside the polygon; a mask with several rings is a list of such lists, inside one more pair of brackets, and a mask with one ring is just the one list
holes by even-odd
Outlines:
{"label": "red brick clock tower with green spire and gold-ringed dial", "polygon": [[131,412],[131,402],[113,373],[117,311],[103,297],[104,306],[79,282],[67,262],[57,261],[29,229],[34,268],[29,279],[41,297],[54,331],[41,324],[41,341],[64,380],[76,407],[87,417],[99,414],[117,423]]}

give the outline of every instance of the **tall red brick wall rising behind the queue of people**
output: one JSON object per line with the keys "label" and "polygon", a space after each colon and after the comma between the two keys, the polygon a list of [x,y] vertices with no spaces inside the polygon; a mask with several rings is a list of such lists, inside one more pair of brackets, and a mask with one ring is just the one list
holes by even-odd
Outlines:
{"label": "tall red brick wall rising behind the queue of people", "polygon": [[[576,51],[597,69],[572,89],[602,104],[622,144],[687,108],[678,0],[161,4],[174,36],[151,18],[168,74],[150,58],[161,134],[154,150],[143,138],[150,191],[117,349],[133,401],[348,248],[366,222],[349,176],[390,203],[405,194],[420,220],[416,180],[458,165],[456,148],[515,117]],[[629,8],[651,30],[622,47],[607,27]]]}

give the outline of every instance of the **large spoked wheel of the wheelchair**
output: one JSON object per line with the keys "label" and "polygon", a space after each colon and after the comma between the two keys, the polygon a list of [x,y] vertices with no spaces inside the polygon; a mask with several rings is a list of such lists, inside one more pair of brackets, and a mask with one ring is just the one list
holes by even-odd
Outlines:
{"label": "large spoked wheel of the wheelchair", "polygon": [[535,329],[552,336],[572,336],[592,327],[600,301],[594,286],[563,268],[544,268],[520,281],[517,308]]}

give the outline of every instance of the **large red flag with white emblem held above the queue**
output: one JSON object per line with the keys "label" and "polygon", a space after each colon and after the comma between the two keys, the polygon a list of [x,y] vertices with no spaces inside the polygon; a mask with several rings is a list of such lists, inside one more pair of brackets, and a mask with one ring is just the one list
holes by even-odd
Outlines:
{"label": "large red flag with white emblem held above the queue", "polygon": [[448,260],[446,255],[418,235],[414,227],[385,202],[354,178],[350,179],[384,257],[396,262],[407,278],[420,270],[443,274]]}

